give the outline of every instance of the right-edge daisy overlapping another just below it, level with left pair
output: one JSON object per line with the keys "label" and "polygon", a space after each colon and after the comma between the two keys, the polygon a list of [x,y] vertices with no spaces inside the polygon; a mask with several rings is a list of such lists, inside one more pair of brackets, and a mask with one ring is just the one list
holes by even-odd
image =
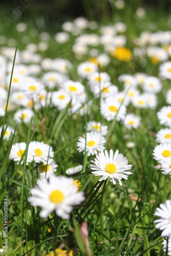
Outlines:
{"label": "right-edge daisy overlapping another just below it, level with left pair", "polygon": [[159,163],[164,160],[171,159],[171,143],[159,144],[154,148],[153,151],[154,159],[156,159]]}

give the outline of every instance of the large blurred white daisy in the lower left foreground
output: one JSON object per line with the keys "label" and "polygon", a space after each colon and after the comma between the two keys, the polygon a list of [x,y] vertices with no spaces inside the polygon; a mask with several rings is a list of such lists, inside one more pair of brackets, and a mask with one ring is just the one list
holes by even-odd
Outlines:
{"label": "large blurred white daisy in the lower left foreground", "polygon": [[37,185],[30,189],[32,197],[28,201],[33,206],[41,207],[40,217],[47,218],[55,210],[56,215],[63,219],[70,218],[74,205],[84,200],[83,192],[73,184],[73,179],[63,176],[51,176],[47,179],[38,179]]}

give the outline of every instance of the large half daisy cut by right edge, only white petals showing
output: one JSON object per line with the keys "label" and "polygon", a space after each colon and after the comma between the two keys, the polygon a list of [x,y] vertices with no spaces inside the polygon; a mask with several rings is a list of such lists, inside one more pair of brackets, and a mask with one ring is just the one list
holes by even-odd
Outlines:
{"label": "large half daisy cut by right edge, only white petals showing", "polygon": [[157,223],[157,229],[163,230],[161,236],[169,238],[171,236],[171,200],[160,204],[160,208],[156,208],[154,215],[160,217],[159,220],[155,220],[154,222]]}

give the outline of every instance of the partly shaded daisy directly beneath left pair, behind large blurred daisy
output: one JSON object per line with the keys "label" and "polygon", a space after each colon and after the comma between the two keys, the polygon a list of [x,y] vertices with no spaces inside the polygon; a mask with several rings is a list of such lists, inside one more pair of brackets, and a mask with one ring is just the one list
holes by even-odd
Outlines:
{"label": "partly shaded daisy directly beneath left pair, behind large blurred daisy", "polygon": [[50,176],[54,175],[54,173],[57,170],[58,165],[54,162],[53,159],[48,160],[47,162],[42,163],[39,165],[39,170],[40,170],[40,178],[49,178]]}

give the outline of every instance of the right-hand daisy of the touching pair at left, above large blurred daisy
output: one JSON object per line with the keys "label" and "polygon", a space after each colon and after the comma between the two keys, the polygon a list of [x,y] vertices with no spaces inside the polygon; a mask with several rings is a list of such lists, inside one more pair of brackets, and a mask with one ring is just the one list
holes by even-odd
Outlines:
{"label": "right-hand daisy of the touching pair at left, above large blurred daisy", "polygon": [[36,163],[45,163],[48,161],[48,157],[54,157],[52,147],[42,141],[31,141],[29,144],[29,152],[33,155],[34,162]]}

